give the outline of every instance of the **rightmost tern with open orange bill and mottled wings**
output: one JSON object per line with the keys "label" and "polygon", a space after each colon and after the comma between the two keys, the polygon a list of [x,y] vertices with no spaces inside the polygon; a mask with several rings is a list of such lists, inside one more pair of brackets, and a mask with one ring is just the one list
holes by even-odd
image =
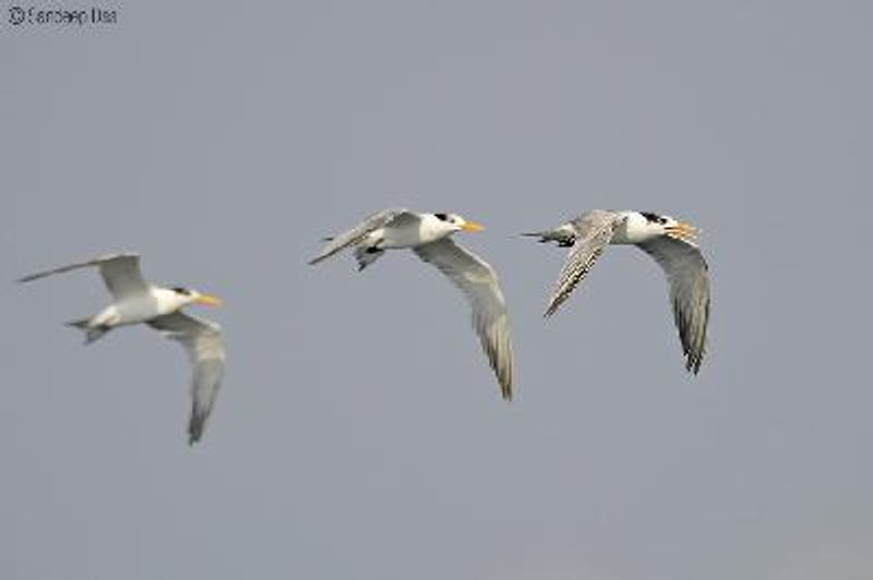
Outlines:
{"label": "rightmost tern with open orange bill and mottled wings", "polygon": [[523,235],[570,247],[546,316],[554,314],[594,266],[607,245],[636,245],[663,269],[670,286],[685,368],[697,374],[706,352],[709,324],[708,266],[697,247],[699,230],[649,212],[595,209],[548,231]]}

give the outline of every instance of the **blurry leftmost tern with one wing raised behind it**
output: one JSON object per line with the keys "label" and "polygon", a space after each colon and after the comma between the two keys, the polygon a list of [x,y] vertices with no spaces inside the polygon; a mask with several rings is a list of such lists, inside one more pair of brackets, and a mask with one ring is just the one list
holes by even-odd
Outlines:
{"label": "blurry leftmost tern with one wing raised behind it", "polygon": [[189,444],[200,440],[206,420],[215,406],[225,368],[225,347],[222,328],[213,322],[182,312],[189,304],[217,306],[217,298],[187,288],[162,288],[143,279],[139,254],[110,254],[88,262],[40,271],[20,279],[29,282],[53,274],[96,266],[112,303],[98,314],[68,323],[85,333],[91,345],[119,326],[147,324],[167,338],[179,341],[191,359],[191,419],[188,424]]}

